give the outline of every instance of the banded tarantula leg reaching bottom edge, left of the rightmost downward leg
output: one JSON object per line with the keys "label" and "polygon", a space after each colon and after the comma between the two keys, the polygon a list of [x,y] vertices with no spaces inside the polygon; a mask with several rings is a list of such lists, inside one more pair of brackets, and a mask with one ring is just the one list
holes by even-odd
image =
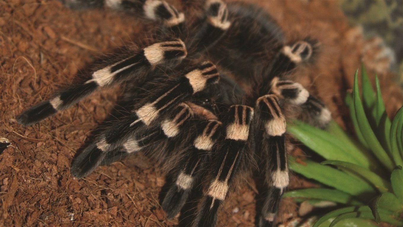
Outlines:
{"label": "banded tarantula leg reaching bottom edge, left of the rightmost downward leg", "polygon": [[226,136],[214,149],[215,156],[209,174],[211,179],[199,202],[192,226],[214,226],[217,211],[237,177],[247,150],[249,127],[253,109],[244,105],[233,105],[226,122]]}

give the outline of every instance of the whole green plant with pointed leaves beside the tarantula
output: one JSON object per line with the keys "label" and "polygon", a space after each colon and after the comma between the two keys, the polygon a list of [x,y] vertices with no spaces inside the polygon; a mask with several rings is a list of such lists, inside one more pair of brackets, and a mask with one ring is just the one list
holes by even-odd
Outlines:
{"label": "whole green plant with pointed leaves beside the tarantula", "polygon": [[[362,102],[355,73],[352,93],[347,94],[351,120],[357,141],[336,122],[328,130],[320,130],[303,122],[288,127],[289,132],[325,161],[290,158],[294,172],[318,181],[323,187],[299,189],[285,193],[297,202],[338,204],[322,216],[316,226],[334,226],[348,220],[345,226],[377,226],[386,222],[403,226],[403,107],[391,122],[386,115],[376,77],[376,93],[362,66]],[[337,167],[337,168],[334,168]]]}

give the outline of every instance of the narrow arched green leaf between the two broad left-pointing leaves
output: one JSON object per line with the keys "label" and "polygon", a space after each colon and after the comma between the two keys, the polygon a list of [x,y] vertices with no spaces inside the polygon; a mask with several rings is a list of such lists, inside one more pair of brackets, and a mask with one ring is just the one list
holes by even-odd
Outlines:
{"label": "narrow arched green leaf between the two broad left-pointing leaves", "polygon": [[355,173],[355,175],[357,177],[360,177],[361,179],[363,179],[365,181],[369,181],[381,193],[390,191],[392,189],[391,183],[382,179],[382,177],[379,177],[374,172],[371,172],[370,170],[363,168],[361,166],[357,166],[356,164],[349,163],[349,162],[343,162],[343,161],[334,161],[334,160],[324,161],[324,162],[321,162],[320,164],[335,165],[342,169],[346,168],[347,170],[350,170],[351,172]]}

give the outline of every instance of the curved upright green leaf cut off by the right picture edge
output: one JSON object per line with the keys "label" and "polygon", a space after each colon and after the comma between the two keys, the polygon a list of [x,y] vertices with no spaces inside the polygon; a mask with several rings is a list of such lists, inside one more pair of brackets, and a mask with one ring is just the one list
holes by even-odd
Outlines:
{"label": "curved upright green leaf cut off by the right picture edge", "polygon": [[[397,111],[395,118],[393,118],[393,122],[391,125],[391,133],[390,133],[390,141],[391,141],[391,149],[392,156],[395,160],[403,159],[403,149],[402,149],[402,125],[403,125],[403,107]],[[399,130],[400,128],[400,130]],[[399,145],[400,144],[400,145]],[[397,161],[399,162],[399,161]]]}

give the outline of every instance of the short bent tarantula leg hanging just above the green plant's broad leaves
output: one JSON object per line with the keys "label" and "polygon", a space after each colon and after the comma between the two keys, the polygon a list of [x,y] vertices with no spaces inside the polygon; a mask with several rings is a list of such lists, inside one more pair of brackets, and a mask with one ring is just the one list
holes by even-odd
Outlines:
{"label": "short bent tarantula leg hanging just above the green plant's broad leaves", "polygon": [[278,77],[272,80],[271,92],[293,105],[301,107],[300,118],[310,124],[326,128],[331,120],[328,108],[318,98],[311,95],[301,84],[290,80],[280,81]]}

